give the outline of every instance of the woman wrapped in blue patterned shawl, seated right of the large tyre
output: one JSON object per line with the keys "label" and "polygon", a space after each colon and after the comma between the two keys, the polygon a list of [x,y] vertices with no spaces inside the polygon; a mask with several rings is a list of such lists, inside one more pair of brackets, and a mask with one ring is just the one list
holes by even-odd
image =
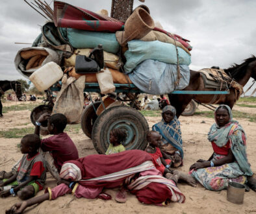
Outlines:
{"label": "woman wrapped in blue patterned shawl, seated right of the large tyre", "polygon": [[170,156],[171,166],[181,166],[183,163],[183,146],[181,126],[176,117],[176,109],[173,106],[165,106],[162,109],[162,121],[153,125],[152,130],[159,132],[162,136],[160,149]]}

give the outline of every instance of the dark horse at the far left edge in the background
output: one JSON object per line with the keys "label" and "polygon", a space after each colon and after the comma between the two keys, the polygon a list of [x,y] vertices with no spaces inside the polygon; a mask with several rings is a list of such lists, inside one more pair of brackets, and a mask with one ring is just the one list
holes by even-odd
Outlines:
{"label": "dark horse at the far left edge in the background", "polygon": [[[22,91],[21,91],[21,83],[20,82],[18,82],[18,81],[8,81],[8,80],[0,81],[0,97],[8,89],[13,89],[15,91],[18,100],[21,98]],[[2,102],[1,102],[1,99],[0,99],[0,117],[3,117],[2,110],[3,110],[3,105],[2,105]]]}

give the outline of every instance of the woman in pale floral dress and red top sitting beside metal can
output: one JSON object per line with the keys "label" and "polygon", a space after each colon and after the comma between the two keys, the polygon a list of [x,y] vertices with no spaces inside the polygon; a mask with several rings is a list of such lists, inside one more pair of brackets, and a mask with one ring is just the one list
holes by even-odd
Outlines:
{"label": "woman in pale floral dress and red top sitting beside metal can", "polygon": [[190,167],[192,177],[212,191],[226,189],[229,181],[244,184],[246,178],[253,184],[253,172],[246,156],[246,134],[242,126],[233,121],[227,105],[216,108],[214,119],[216,123],[208,133],[214,152],[208,161],[198,160]]}

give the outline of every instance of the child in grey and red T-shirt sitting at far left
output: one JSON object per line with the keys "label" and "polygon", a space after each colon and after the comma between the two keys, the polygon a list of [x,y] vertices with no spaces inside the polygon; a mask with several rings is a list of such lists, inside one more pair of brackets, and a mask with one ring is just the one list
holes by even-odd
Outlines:
{"label": "child in grey and red T-shirt sitting at far left", "polygon": [[[21,158],[18,172],[9,179],[4,179],[0,184],[0,196],[17,195],[26,200],[36,195],[43,189],[46,180],[46,164],[42,155],[38,152],[40,137],[36,134],[27,134],[22,137],[20,150],[24,154]],[[12,187],[8,189],[8,187]],[[6,189],[6,190],[5,190]]]}

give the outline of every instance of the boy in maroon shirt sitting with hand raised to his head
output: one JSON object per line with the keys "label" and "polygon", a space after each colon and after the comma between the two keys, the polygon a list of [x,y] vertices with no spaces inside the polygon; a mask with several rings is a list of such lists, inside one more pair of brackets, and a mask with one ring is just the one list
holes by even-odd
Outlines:
{"label": "boy in maroon shirt sitting with hand raised to his head", "polygon": [[[47,161],[47,169],[56,180],[59,180],[58,173],[65,161],[76,160],[79,158],[77,147],[70,136],[64,132],[67,125],[67,118],[62,113],[42,114],[36,121],[34,134],[40,136],[41,123],[47,123],[47,130],[53,136],[42,139],[40,152]],[[20,160],[19,160],[20,161]],[[12,167],[12,172],[1,172],[4,178],[16,174],[19,161]]]}

